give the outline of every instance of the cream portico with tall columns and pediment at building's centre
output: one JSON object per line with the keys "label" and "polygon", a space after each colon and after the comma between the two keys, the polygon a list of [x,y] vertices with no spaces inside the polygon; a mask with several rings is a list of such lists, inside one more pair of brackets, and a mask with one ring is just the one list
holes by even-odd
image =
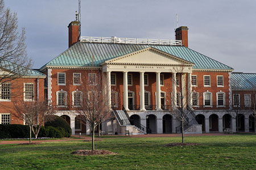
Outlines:
{"label": "cream portico with tall columns and pediment at building's centre", "polygon": [[[158,60],[155,60],[158,59]],[[154,63],[151,63],[154,61]],[[128,90],[128,77],[127,75],[132,72],[139,73],[139,110],[145,111],[145,73],[155,73],[155,89],[151,90],[151,94],[155,93],[155,108],[154,110],[161,111],[161,73],[170,73],[172,77],[172,106],[176,106],[176,74],[181,73],[183,77],[187,77],[187,81],[181,78],[184,88],[188,91],[188,94],[192,92],[191,85],[191,73],[193,63],[189,61],[180,59],[179,57],[172,56],[168,53],[159,51],[158,49],[149,47],[142,49],[137,52],[130,53],[129,55],[124,55],[117,57],[112,60],[105,61],[102,63],[103,76],[106,76],[106,94],[108,96],[108,102],[111,106],[111,80],[110,76],[112,72],[122,72],[123,73],[123,107],[125,110],[134,109],[130,107],[129,109],[129,90]],[[187,75],[186,75],[187,74]],[[152,79],[148,77],[148,79]],[[148,81],[148,80],[147,80]],[[185,87],[187,85],[187,87]],[[122,94],[120,94],[122,96]],[[120,97],[121,97],[120,96]],[[188,103],[192,105],[192,98]],[[147,102],[146,102],[147,103]],[[121,108],[122,109],[122,108]]]}

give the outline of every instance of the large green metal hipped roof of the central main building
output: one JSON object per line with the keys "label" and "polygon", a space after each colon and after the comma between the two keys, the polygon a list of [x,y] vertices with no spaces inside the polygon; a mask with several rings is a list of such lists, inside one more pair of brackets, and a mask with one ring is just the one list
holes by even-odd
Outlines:
{"label": "large green metal hipped roof of the central main building", "polygon": [[184,46],[80,42],[72,45],[72,47],[68,48],[44,66],[86,67],[92,65],[93,58],[94,66],[99,66],[106,60],[127,55],[148,47],[159,49],[160,51],[170,53],[170,55],[195,63],[193,69],[233,69],[228,67],[228,65],[210,59],[209,57]]}

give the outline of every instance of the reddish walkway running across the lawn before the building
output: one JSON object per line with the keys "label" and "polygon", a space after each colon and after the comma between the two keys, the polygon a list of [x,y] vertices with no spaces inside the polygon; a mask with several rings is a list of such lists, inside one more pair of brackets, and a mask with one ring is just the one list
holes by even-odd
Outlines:
{"label": "reddish walkway running across the lawn before the building", "polygon": [[[224,134],[224,133],[203,133],[203,134],[184,134],[184,136],[225,136],[230,134]],[[74,137],[79,138],[79,135],[72,135]],[[116,135],[104,135],[104,136],[116,136]],[[124,135],[119,135],[124,136]],[[158,137],[180,137],[181,134],[146,134],[146,135],[133,135],[130,136],[130,138],[158,138]],[[95,136],[96,140],[104,140],[104,139],[116,139],[116,138],[97,138],[97,135]],[[80,139],[52,139],[52,140],[32,140],[32,143],[42,143],[42,142],[65,142],[65,141],[76,141],[76,140],[92,140],[89,136],[81,136]],[[29,140],[0,140],[1,144],[18,144],[18,143],[29,143]]]}

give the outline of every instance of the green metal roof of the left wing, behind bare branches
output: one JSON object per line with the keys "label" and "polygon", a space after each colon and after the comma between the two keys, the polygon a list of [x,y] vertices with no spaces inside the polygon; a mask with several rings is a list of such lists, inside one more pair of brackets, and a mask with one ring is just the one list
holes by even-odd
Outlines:
{"label": "green metal roof of the left wing, behind bare branches", "polygon": [[24,68],[18,64],[12,63],[11,61],[7,60],[2,60],[0,62],[0,68],[10,71],[12,73],[20,73],[23,76],[46,77],[46,74],[40,73],[33,69]]}

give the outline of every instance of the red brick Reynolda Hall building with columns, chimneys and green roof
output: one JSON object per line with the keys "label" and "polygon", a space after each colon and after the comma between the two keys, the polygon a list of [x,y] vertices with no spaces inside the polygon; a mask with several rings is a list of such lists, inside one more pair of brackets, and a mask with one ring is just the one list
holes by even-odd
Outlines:
{"label": "red brick Reynolda Hall building with columns, chimneys and green roof", "polygon": [[[56,105],[72,134],[91,132],[72,107],[79,103],[81,77],[96,77],[92,67],[106,80],[114,114],[98,127],[102,134],[179,133],[172,109],[183,104],[180,96],[189,96],[182,102],[193,108],[185,133],[254,131],[256,74],[232,73],[228,65],[188,48],[187,27],[176,28],[176,40],[80,37],[79,29],[79,22],[69,23],[69,48],[20,78],[24,99],[46,98]],[[10,86],[2,84],[0,93],[0,102],[9,105]],[[0,109],[0,123],[22,124],[13,114]]]}

